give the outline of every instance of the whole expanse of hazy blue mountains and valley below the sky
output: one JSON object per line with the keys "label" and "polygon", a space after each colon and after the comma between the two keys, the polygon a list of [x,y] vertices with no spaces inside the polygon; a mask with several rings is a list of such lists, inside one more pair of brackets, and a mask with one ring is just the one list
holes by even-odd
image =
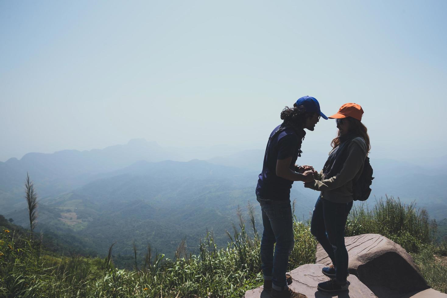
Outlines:
{"label": "whole expanse of hazy blue mountains and valley below the sky", "polygon": [[[135,241],[139,251],[150,243],[172,256],[184,237],[194,250],[207,230],[224,245],[225,231],[237,221],[238,205],[246,211],[250,202],[260,223],[254,189],[264,150],[215,147],[198,155],[213,152],[215,157],[207,161],[175,161],[185,160],[191,152],[136,139],[102,150],[28,153],[20,160],[0,162],[0,214],[27,226],[23,183],[29,172],[39,195],[38,229],[76,239],[73,248],[105,254],[119,240],[115,252],[128,255]],[[326,157],[304,152],[298,163],[320,169]],[[445,157],[424,171],[403,161],[371,157],[371,164],[373,195],[399,196],[407,203],[416,200],[432,218],[447,217],[447,195],[439,187],[447,178]],[[317,196],[295,182],[291,199],[297,200],[298,219],[309,217]],[[374,198],[368,203],[373,205]]]}

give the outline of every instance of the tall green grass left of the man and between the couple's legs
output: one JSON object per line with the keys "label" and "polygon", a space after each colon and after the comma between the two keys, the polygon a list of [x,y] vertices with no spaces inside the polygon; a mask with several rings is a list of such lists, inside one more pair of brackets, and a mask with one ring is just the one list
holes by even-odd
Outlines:
{"label": "tall green grass left of the man and between the couple's legs", "polygon": [[[238,211],[239,224],[228,233],[230,242],[219,249],[211,233],[200,240],[198,254],[186,256],[184,243],[174,260],[163,254],[152,257],[150,246],[146,265],[128,271],[112,266],[111,250],[104,260],[79,256],[38,255],[32,240],[13,239],[1,234],[3,244],[20,243],[0,259],[0,295],[4,297],[241,297],[262,283],[259,257],[260,236],[253,207],[249,207],[249,229]],[[306,224],[295,222],[295,248],[290,269],[315,261],[316,241]],[[3,245],[2,244],[2,245]],[[2,247],[0,246],[0,249]],[[3,249],[2,249],[3,251]],[[135,253],[135,250],[134,250]],[[184,256],[184,257],[182,257]],[[15,260],[15,261],[13,261]],[[3,265],[6,265],[3,267]],[[30,286],[32,285],[32,286]]]}

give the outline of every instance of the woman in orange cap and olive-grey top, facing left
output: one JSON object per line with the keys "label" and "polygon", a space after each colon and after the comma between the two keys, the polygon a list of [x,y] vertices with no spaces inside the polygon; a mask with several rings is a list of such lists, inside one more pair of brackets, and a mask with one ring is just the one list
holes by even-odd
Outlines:
{"label": "woman in orange cap and olive-grey top, facing left", "polygon": [[305,187],[321,191],[312,213],[311,232],[332,260],[322,269],[331,280],[318,284],[323,291],[347,290],[348,252],[345,225],[353,202],[353,182],[362,174],[365,158],[371,149],[367,128],[362,124],[363,109],[356,103],[345,103],[328,118],[336,119],[338,134],[332,140],[333,150],[315,181]]}

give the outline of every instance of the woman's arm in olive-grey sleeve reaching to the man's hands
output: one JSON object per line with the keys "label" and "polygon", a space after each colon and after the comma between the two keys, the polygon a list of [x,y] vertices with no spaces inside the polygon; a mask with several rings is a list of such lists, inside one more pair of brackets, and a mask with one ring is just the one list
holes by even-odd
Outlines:
{"label": "woman's arm in olive-grey sleeve reaching to the man's hands", "polygon": [[[359,144],[357,141],[352,141],[348,147],[348,157],[346,158],[343,168],[337,175],[326,178],[323,181],[314,181],[304,183],[304,187],[312,188],[313,190],[328,191],[336,189],[345,185],[347,182],[354,179],[360,168],[365,162],[366,146]],[[320,172],[321,173],[321,172]]]}

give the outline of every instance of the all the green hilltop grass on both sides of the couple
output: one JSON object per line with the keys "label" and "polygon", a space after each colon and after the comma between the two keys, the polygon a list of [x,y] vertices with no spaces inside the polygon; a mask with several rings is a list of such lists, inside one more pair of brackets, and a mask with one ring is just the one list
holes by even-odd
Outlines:
{"label": "all the green hilltop grass on both sides of the couple", "polygon": [[[0,230],[0,296],[242,297],[261,285],[262,274],[253,207],[248,223],[238,215],[226,248],[218,249],[211,233],[195,255],[186,254],[182,241],[172,260],[148,246],[144,262],[136,263],[138,270],[117,269],[108,258],[53,256],[35,238]],[[435,232],[425,211],[393,198],[379,200],[371,210],[353,208],[346,224],[347,236],[379,233],[401,244],[430,286],[446,293],[447,267],[436,256],[447,252],[447,244],[435,245]],[[315,262],[316,240],[308,223],[295,221],[294,234],[289,270]]]}

